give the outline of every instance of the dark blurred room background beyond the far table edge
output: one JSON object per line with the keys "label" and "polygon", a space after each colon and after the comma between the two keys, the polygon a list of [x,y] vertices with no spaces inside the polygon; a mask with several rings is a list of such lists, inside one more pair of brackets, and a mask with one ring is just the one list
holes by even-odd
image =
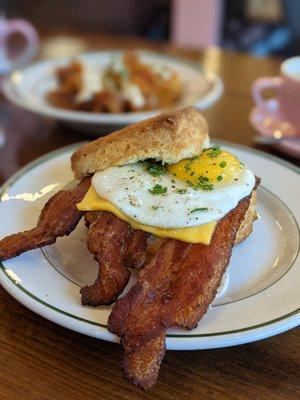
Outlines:
{"label": "dark blurred room background beyond the far table edge", "polygon": [[[26,18],[53,46],[76,53],[76,31],[169,41],[185,47],[220,46],[256,56],[289,57],[300,49],[300,1],[295,0],[1,0],[8,18]],[[65,40],[55,43],[53,33]],[[64,47],[65,45],[68,45]],[[52,46],[52,47],[51,47]],[[80,48],[80,49],[79,49]]]}

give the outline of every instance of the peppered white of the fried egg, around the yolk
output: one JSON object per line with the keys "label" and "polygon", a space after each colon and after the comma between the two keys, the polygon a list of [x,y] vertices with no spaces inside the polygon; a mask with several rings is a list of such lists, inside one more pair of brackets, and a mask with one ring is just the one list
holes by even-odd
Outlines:
{"label": "peppered white of the fried egg, around the yolk", "polygon": [[[224,217],[248,196],[255,184],[253,173],[245,167],[231,184],[216,184],[212,191],[195,190],[170,174],[152,176],[142,163],[111,167],[97,172],[92,185],[98,195],[108,200],[131,219],[159,228],[187,228]],[[150,192],[155,185],[166,187],[165,194]],[[186,190],[178,193],[178,190]],[[197,208],[208,210],[194,211]]]}

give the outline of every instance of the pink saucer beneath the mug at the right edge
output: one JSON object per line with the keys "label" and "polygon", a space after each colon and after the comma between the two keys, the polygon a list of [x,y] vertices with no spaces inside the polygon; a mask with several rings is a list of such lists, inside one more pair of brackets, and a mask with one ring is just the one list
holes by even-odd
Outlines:
{"label": "pink saucer beneath the mug at the right edge", "polygon": [[[272,145],[272,147],[289,156],[300,158],[299,130],[283,117],[276,98],[267,100],[266,105],[270,109],[270,113],[258,106],[255,106],[251,110],[250,122],[252,126],[260,135],[265,137],[286,137],[286,139],[281,139],[279,143]],[[299,136],[299,141],[295,140],[295,136]],[[289,137],[293,137],[293,140],[290,140]]]}

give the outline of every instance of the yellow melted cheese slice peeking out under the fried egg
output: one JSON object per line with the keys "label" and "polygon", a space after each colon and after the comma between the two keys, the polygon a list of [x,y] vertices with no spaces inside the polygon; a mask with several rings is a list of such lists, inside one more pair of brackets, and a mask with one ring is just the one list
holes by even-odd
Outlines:
{"label": "yellow melted cheese slice peeking out under the fried egg", "polygon": [[143,225],[127,217],[127,215],[123,214],[122,211],[109,201],[99,197],[92,186],[82,201],[77,204],[77,208],[79,211],[108,211],[121,220],[127,222],[133,229],[149,232],[158,237],[177,239],[187,243],[209,244],[217,224],[216,221],[213,221],[200,226],[180,229],[164,229]]}

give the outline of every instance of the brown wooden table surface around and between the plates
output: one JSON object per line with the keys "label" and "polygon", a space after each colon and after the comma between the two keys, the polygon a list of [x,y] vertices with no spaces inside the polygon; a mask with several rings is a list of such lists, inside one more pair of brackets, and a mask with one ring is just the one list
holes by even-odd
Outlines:
{"label": "brown wooden table surface around and between the plates", "polygon": [[[203,112],[211,136],[251,147],[251,84],[260,76],[276,75],[280,64],[279,59],[216,48],[183,50],[138,39],[85,35],[69,42],[65,37],[64,42],[83,51],[150,48],[201,62],[225,83],[221,100]],[[51,55],[61,51],[53,46],[53,36],[45,37],[41,55],[49,56],[49,49]],[[78,132],[0,99],[0,183],[33,159],[83,139]],[[0,315],[1,400],[299,399],[299,329],[238,347],[169,351],[157,384],[144,392],[123,379],[121,346],[53,324],[23,307],[1,286]]]}

